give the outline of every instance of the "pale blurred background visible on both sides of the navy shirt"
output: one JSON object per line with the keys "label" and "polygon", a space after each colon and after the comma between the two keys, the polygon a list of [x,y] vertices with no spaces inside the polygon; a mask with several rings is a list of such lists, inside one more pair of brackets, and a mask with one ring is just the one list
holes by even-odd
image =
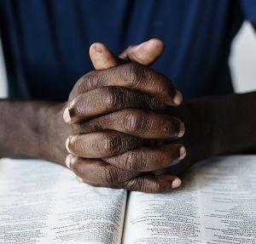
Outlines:
{"label": "pale blurred background visible on both sides of the navy shirt", "polygon": [[[245,22],[232,45],[230,67],[236,92],[256,90],[256,34]],[[0,48],[0,97],[7,94],[3,50]]]}

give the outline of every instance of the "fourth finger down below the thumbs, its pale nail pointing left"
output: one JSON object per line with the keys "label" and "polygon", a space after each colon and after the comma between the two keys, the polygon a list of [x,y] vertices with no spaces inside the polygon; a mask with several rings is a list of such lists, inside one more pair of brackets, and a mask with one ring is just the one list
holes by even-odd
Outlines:
{"label": "fourth finger down below the thumbs, its pale nail pointing left", "polygon": [[70,136],[66,147],[74,156],[102,158],[119,155],[146,143],[148,142],[143,139],[124,133],[97,131]]}

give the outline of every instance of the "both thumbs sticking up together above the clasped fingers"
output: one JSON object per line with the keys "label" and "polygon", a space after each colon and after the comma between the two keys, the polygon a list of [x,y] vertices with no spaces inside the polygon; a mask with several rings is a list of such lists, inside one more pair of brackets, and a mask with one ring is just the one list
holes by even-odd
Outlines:
{"label": "both thumbs sticking up together above the clasped fingers", "polygon": [[137,62],[141,65],[151,65],[164,51],[164,43],[159,39],[130,46],[116,57],[103,43],[93,43],[90,46],[90,60],[96,71],[105,70],[127,62]]}

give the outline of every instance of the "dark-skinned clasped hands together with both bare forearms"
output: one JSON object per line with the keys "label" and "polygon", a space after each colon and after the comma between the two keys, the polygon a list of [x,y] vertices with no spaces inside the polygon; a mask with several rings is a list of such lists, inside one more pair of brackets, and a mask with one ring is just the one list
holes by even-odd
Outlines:
{"label": "dark-skinned clasped hands together with both bare forearms", "polygon": [[104,71],[80,79],[67,103],[1,100],[0,156],[62,165],[67,157],[67,166],[85,183],[160,192],[177,187],[174,175],[194,162],[255,151],[256,93],[178,105],[181,97],[172,83],[145,66],[159,54],[150,54],[151,60],[144,55],[143,60],[142,50],[130,48],[122,56],[143,65],[121,65],[127,61],[103,54],[113,64],[90,54],[94,65],[98,63],[96,70]]}

